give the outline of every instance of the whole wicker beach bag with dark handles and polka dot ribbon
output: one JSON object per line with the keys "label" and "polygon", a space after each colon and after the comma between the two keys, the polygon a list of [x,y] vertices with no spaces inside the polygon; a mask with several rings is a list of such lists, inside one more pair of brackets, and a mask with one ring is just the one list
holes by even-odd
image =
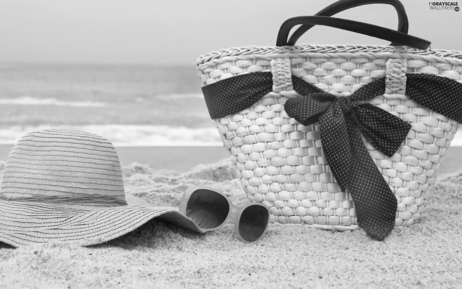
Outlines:
{"label": "whole wicker beach bag with dark handles and polka dot ribbon", "polygon": [[[395,7],[397,31],[330,17],[374,3]],[[314,25],[392,43],[295,45]],[[430,50],[407,29],[398,0],[340,0],[286,20],[276,47],[198,59],[210,116],[249,201],[266,204],[271,223],[363,228],[382,240],[422,218],[462,122],[462,53]]]}

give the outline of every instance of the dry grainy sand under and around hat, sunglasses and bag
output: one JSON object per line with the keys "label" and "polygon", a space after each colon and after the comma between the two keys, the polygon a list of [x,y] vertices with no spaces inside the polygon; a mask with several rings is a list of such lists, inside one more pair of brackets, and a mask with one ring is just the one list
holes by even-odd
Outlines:
{"label": "dry grainy sand under and around hat, sunglasses and bag", "polygon": [[[123,174],[126,193],[146,205],[177,206],[195,185],[246,202],[228,161],[184,173],[132,164]],[[0,288],[461,288],[461,226],[462,172],[440,176],[425,218],[383,242],[362,230],[271,226],[244,244],[231,223],[197,234],[153,220],[97,246],[0,243]]]}

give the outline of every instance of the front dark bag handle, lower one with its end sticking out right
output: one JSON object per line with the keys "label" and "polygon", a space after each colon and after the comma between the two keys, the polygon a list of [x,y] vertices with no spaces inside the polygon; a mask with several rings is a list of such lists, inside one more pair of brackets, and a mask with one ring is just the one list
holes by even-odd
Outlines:
{"label": "front dark bag handle, lower one with its end sticking out right", "polygon": [[391,41],[393,43],[399,43],[399,45],[405,45],[417,49],[427,49],[431,44],[430,41],[377,25],[328,16],[299,16],[289,18],[284,21],[279,29],[276,46],[287,46],[287,37],[289,36],[289,32],[295,25],[300,24],[324,25],[339,28],[371,37],[377,37],[383,40]]}

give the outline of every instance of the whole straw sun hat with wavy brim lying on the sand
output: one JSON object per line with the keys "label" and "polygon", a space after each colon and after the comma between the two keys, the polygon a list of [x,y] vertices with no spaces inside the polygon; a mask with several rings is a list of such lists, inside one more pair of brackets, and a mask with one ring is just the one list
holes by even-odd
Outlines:
{"label": "whole straw sun hat with wavy brim lying on the sand", "polygon": [[169,207],[128,206],[115,148],[77,129],[24,135],[12,148],[0,190],[0,242],[49,241],[89,246],[115,239],[153,218],[205,233]]}

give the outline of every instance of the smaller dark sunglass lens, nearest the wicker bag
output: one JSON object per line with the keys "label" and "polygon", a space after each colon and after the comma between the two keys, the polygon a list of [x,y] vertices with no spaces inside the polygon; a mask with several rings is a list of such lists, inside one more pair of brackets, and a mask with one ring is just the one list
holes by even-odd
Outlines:
{"label": "smaller dark sunglass lens, nearest the wicker bag", "polygon": [[248,241],[258,240],[268,226],[268,209],[260,204],[245,208],[239,219],[239,234]]}

